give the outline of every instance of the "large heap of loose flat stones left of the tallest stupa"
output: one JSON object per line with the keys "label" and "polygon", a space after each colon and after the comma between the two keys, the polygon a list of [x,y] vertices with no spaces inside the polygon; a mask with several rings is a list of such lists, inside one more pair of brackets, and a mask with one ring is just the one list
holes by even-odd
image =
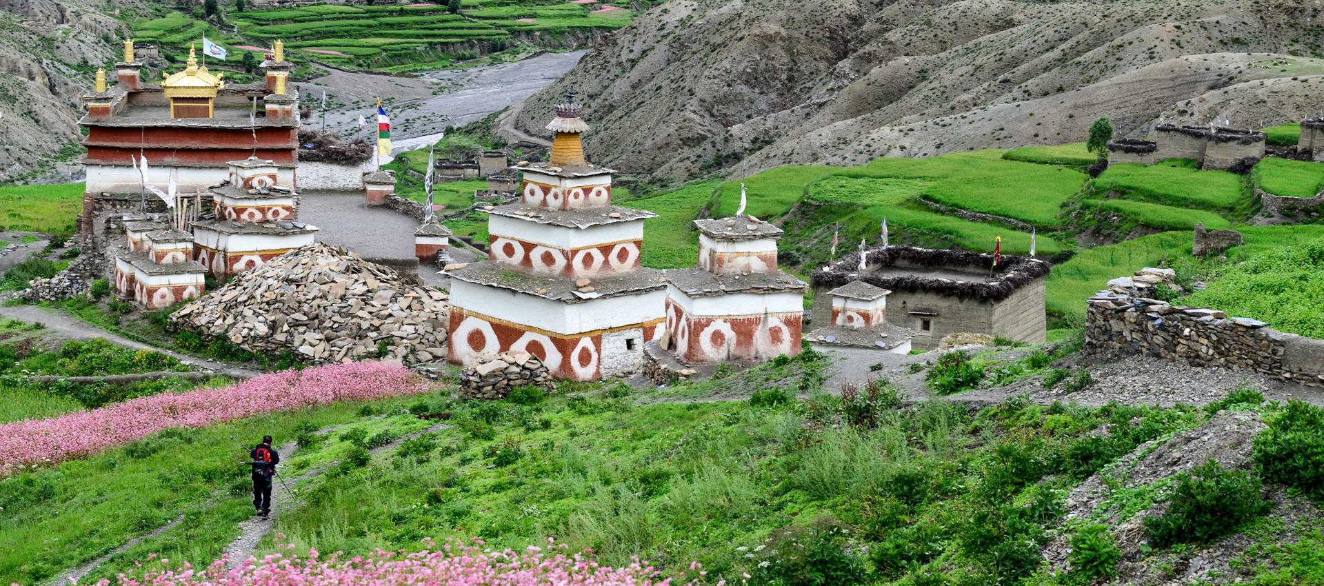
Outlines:
{"label": "large heap of loose flat stones left of the tallest stupa", "polygon": [[355,253],[308,245],[238,274],[184,306],[171,321],[254,353],[295,352],[307,362],[379,356],[402,364],[444,360],[446,294]]}

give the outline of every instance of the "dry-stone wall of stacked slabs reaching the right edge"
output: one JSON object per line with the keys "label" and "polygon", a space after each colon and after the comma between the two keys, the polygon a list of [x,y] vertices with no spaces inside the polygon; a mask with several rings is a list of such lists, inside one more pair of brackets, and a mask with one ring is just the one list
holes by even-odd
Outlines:
{"label": "dry-stone wall of stacked slabs reaching the right edge", "polygon": [[1170,283],[1170,270],[1143,269],[1090,298],[1086,353],[1155,356],[1194,366],[1235,366],[1308,386],[1324,386],[1324,340],[1279,332],[1207,307],[1147,296]]}

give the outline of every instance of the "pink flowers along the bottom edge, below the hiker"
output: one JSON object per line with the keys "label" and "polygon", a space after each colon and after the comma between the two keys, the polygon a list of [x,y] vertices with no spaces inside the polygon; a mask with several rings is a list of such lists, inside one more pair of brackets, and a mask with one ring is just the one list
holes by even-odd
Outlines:
{"label": "pink flowers along the bottom edge, below the hiker", "polygon": [[[425,544],[428,544],[425,541]],[[207,569],[189,565],[148,570],[142,577],[120,574],[118,586],[277,586],[277,585],[414,585],[414,586],[669,586],[670,578],[637,560],[622,567],[598,565],[587,554],[544,553],[530,546],[524,552],[495,552],[474,545],[453,545],[422,552],[384,552],[344,558],[320,558],[314,549],[307,557],[271,554],[248,560],[226,570],[226,560]],[[430,544],[429,544],[430,545]],[[293,549],[293,546],[287,545]],[[166,567],[168,560],[160,560]],[[698,565],[694,566],[698,569]],[[703,574],[699,570],[700,575]],[[98,585],[110,585],[101,581]],[[696,586],[698,582],[688,582]],[[716,586],[722,586],[719,582]]]}

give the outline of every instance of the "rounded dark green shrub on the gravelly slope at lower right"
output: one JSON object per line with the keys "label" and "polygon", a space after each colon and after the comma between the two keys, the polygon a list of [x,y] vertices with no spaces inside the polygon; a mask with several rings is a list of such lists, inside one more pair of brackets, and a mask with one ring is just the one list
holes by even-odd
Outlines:
{"label": "rounded dark green shrub on the gravelly slope at lower right", "polygon": [[1259,478],[1225,470],[1214,460],[1178,474],[1176,481],[1168,511],[1145,519],[1145,532],[1160,548],[1211,542],[1272,508],[1262,495]]}

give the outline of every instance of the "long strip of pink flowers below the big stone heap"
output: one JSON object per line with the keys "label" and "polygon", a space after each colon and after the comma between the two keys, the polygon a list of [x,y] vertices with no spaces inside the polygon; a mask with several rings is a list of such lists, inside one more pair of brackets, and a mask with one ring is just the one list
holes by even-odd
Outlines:
{"label": "long strip of pink flowers below the big stone heap", "polygon": [[263,413],[339,401],[422,393],[428,384],[400,365],[351,362],[262,374],[224,388],[140,397],[49,419],[0,425],[0,476],[82,458],[169,427],[203,427]]}

